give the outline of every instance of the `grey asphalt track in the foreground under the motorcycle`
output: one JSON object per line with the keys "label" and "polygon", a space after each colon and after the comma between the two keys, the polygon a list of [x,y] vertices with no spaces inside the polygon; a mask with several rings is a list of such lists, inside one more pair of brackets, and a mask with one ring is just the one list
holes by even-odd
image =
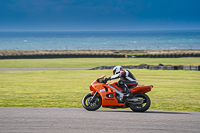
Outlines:
{"label": "grey asphalt track in the foreground under the motorcycle", "polygon": [[0,133],[200,133],[200,112],[0,107]]}

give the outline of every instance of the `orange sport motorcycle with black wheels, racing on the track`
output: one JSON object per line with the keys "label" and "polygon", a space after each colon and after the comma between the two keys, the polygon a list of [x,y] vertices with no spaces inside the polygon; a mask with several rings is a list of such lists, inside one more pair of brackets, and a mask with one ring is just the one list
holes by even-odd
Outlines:
{"label": "orange sport motorcycle with black wheels, racing on the track", "polygon": [[134,112],[145,112],[151,105],[150,98],[145,94],[153,85],[137,85],[130,91],[133,97],[125,97],[125,91],[118,86],[118,82],[106,84],[106,75],[94,80],[90,87],[91,93],[83,97],[82,105],[88,111],[95,111],[101,106],[106,108],[129,108]]}

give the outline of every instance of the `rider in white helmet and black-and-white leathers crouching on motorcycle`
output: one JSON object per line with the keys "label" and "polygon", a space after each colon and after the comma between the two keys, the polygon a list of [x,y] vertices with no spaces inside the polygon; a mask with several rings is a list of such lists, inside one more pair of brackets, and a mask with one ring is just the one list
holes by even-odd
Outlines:
{"label": "rider in white helmet and black-and-white leathers crouching on motorcycle", "polygon": [[120,78],[118,85],[126,92],[126,97],[132,97],[133,95],[129,89],[138,85],[138,82],[133,74],[129,70],[124,71],[121,66],[115,66],[113,68],[113,74],[113,76],[105,78],[104,80],[107,82],[108,80]]}

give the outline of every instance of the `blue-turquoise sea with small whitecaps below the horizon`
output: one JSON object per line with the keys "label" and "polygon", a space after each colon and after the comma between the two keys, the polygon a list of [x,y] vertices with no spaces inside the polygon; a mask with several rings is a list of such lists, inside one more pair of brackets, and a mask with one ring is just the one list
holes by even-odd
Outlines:
{"label": "blue-turquoise sea with small whitecaps below the horizon", "polygon": [[0,32],[0,50],[200,49],[200,30]]}

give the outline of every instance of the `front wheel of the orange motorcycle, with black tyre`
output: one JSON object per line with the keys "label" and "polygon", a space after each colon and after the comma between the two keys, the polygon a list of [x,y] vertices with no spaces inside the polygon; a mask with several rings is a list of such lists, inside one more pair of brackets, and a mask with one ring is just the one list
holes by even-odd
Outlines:
{"label": "front wheel of the orange motorcycle, with black tyre", "polygon": [[88,93],[83,97],[82,105],[88,111],[95,111],[101,107],[102,99],[100,96],[97,96],[95,100],[91,101],[93,95]]}

